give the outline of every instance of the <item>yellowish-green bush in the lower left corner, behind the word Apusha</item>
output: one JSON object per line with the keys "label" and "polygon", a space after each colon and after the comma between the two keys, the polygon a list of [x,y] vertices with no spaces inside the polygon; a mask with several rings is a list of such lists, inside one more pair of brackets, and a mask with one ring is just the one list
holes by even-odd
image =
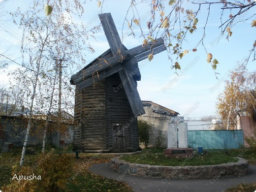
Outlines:
{"label": "yellowish-green bush in the lower left corner, behind the word Apusha", "polygon": [[[63,154],[48,154],[38,156],[32,166],[13,166],[12,176],[31,176],[32,180],[13,179],[3,190],[4,192],[57,192],[65,189],[66,180],[72,176],[74,157]],[[40,176],[40,179],[39,179]]]}

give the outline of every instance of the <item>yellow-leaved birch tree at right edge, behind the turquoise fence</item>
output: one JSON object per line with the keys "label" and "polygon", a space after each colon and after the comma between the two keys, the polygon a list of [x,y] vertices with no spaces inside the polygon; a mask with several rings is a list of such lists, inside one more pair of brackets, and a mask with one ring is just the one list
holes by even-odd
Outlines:
{"label": "yellow-leaved birch tree at right edge, behind the turquoise fence", "polygon": [[224,92],[217,101],[217,112],[227,130],[236,127],[236,116],[240,111],[253,115],[256,109],[256,71],[248,72],[242,64],[229,76],[230,80],[226,81]]}

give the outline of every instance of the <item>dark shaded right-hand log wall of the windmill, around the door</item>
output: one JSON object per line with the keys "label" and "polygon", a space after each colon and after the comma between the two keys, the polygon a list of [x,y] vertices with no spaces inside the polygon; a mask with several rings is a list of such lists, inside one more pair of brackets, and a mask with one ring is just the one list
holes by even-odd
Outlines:
{"label": "dark shaded right-hand log wall of the windmill, around the door", "polygon": [[106,127],[108,134],[107,147],[113,147],[113,125],[122,125],[124,148],[137,150],[139,148],[137,117],[134,117],[124,85],[118,73],[106,78]]}

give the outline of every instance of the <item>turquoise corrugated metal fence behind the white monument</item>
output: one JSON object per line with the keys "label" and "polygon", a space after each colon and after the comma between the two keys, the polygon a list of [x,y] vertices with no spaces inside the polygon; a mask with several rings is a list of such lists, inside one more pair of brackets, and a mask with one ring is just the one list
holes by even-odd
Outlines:
{"label": "turquoise corrugated metal fence behind the white monument", "polygon": [[189,130],[188,145],[193,149],[240,149],[244,146],[243,130]]}

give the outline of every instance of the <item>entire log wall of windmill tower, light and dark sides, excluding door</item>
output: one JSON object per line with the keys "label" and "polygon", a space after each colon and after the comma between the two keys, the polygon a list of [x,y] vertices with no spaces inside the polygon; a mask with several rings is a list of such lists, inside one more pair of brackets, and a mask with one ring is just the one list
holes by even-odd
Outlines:
{"label": "entire log wall of windmill tower, light and dark sides, excluding door", "polygon": [[139,149],[137,117],[118,73],[94,86],[76,89],[75,120],[80,127],[74,132],[74,149],[113,150],[113,125],[118,124],[123,126],[124,150]]}

